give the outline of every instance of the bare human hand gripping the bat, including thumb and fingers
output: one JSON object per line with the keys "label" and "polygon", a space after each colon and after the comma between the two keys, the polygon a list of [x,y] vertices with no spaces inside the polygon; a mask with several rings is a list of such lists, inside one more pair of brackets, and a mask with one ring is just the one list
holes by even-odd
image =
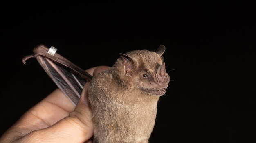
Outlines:
{"label": "bare human hand gripping the bat, including thumb and fingers", "polygon": [[[95,75],[107,66],[86,70]],[[29,109],[0,137],[0,143],[90,143],[93,122],[88,97],[87,82],[84,94],[75,107],[60,89]]]}

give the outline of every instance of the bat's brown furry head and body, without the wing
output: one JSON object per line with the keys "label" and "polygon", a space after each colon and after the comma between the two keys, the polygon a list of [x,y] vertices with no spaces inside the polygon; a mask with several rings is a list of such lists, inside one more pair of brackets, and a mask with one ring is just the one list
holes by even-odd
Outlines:
{"label": "bat's brown furry head and body, without the wing", "polygon": [[164,51],[160,46],[157,52],[120,54],[109,70],[92,78],[88,92],[97,143],[148,143],[157,102],[170,81]]}

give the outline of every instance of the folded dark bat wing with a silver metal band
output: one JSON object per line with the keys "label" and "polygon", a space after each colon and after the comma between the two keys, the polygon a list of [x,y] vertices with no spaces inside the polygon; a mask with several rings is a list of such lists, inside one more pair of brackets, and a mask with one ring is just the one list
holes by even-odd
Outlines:
{"label": "folded dark bat wing with a silver metal band", "polygon": [[54,81],[61,91],[76,106],[81,96],[83,86],[92,79],[92,76],[74,63],[70,62],[56,52],[56,48],[47,48],[38,45],[34,48],[34,54],[22,58],[25,64],[29,58],[36,58],[45,72]]}

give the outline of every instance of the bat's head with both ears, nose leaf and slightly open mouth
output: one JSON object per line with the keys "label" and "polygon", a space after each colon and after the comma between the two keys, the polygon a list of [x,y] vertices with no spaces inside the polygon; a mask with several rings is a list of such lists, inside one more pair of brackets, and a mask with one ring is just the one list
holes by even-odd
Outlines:
{"label": "bat's head with both ears, nose leaf and slightly open mouth", "polygon": [[166,93],[170,76],[165,69],[165,46],[161,45],[152,52],[149,50],[133,50],[121,54],[125,80],[132,88],[152,95],[162,96]]}

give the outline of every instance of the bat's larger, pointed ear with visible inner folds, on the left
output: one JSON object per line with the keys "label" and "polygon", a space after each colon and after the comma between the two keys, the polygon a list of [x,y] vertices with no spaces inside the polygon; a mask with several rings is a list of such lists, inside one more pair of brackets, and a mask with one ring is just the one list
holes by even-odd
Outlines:
{"label": "bat's larger, pointed ear with visible inner folds, on the left", "polygon": [[139,63],[136,58],[132,58],[130,56],[127,56],[125,54],[119,53],[123,62],[124,62],[124,74],[126,76],[131,76],[132,71],[138,68]]}

